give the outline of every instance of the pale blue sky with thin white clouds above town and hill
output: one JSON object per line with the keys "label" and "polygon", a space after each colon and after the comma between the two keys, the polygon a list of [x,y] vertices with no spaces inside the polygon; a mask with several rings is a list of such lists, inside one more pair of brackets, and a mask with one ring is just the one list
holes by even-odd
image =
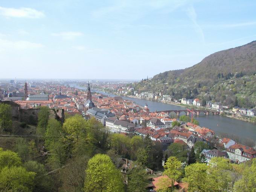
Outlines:
{"label": "pale blue sky with thin white clouds above town and hill", "polygon": [[256,40],[255,0],[0,0],[0,78],[142,79]]}

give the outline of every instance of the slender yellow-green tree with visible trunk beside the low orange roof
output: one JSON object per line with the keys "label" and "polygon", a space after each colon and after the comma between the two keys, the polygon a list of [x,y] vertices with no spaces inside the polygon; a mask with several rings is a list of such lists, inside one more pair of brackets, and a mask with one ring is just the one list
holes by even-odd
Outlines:
{"label": "slender yellow-green tree with visible trunk beside the low orange roof", "polygon": [[165,168],[163,174],[172,180],[172,189],[174,190],[174,181],[180,180],[182,176],[181,162],[176,157],[169,157],[163,167]]}

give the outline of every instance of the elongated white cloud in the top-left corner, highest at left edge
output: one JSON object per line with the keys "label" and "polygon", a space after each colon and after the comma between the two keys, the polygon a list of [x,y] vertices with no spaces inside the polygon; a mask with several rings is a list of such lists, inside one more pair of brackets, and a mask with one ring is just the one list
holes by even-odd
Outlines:
{"label": "elongated white cloud in the top-left corner, highest at left edge", "polygon": [[0,15],[5,17],[18,17],[18,18],[42,18],[44,13],[32,8],[5,8],[0,7]]}

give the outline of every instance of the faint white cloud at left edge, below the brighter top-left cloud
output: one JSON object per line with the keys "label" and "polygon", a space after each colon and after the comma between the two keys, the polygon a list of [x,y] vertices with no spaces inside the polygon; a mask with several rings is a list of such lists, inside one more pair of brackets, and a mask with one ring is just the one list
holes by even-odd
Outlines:
{"label": "faint white cloud at left edge, below the brighter top-left cloud", "polygon": [[44,47],[40,43],[32,43],[29,41],[10,41],[5,39],[0,39],[0,51],[3,50],[25,50],[25,49],[37,49]]}

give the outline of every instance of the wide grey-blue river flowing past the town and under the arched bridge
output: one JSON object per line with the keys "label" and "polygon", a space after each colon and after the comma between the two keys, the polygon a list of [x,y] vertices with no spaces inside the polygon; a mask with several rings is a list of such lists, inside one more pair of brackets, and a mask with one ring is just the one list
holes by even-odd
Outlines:
{"label": "wide grey-blue river flowing past the town and under the arched bridge", "polygon": [[[86,89],[84,87],[76,86],[80,89]],[[104,93],[102,91],[97,91],[97,93],[110,95],[110,96],[116,96],[111,93]],[[137,99],[137,98],[129,98],[122,96],[123,99],[132,100],[137,105],[144,106],[145,103],[148,104],[148,108],[150,111],[162,111],[162,110],[184,110],[186,108],[177,106],[177,105],[171,105],[171,104],[165,104],[157,101],[149,101],[146,99]],[[181,113],[182,115],[183,113]],[[239,137],[241,140],[245,141],[247,138],[253,139],[256,141],[256,124],[250,123],[238,119],[233,119],[230,117],[220,116],[220,115],[200,115],[195,116],[195,119],[197,119],[200,123],[200,126],[205,126],[213,131],[215,131],[216,134],[220,133],[226,133],[229,134],[229,136],[236,136]]]}

